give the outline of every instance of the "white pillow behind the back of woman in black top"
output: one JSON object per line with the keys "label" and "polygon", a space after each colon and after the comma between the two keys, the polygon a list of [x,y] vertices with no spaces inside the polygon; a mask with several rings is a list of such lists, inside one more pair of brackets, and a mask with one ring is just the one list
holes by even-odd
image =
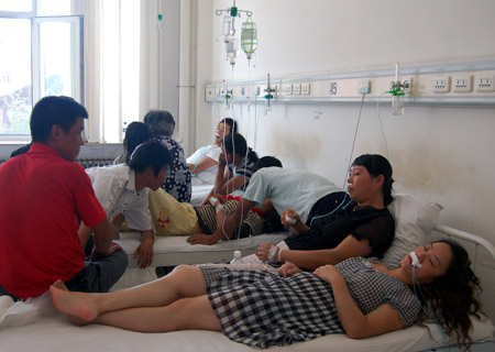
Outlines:
{"label": "white pillow behind the back of woman in black top", "polygon": [[382,262],[398,267],[402,258],[415,248],[427,243],[427,235],[437,224],[442,206],[408,195],[394,195],[387,206],[395,219],[395,235]]}

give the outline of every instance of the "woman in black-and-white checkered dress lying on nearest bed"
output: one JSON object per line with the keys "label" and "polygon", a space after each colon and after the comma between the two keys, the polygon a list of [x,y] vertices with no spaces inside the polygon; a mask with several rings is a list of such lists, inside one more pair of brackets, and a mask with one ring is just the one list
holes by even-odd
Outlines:
{"label": "woman in black-and-white checkered dress lying on nearest bed", "polygon": [[480,286],[464,249],[438,241],[417,248],[400,264],[391,270],[376,258],[353,257],[312,273],[286,263],[278,274],[180,265],[157,280],[109,294],[68,292],[62,280],[51,293],[56,309],[77,324],[221,331],[257,348],[407,328],[427,318],[421,306],[428,300],[446,333],[468,344]]}

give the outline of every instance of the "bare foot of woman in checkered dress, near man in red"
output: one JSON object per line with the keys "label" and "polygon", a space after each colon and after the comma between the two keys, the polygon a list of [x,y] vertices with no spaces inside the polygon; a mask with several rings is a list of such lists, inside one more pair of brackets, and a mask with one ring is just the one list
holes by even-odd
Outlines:
{"label": "bare foot of woman in checkered dress, near man in red", "polygon": [[59,312],[69,316],[70,320],[77,324],[95,320],[98,317],[97,307],[90,295],[65,290],[57,287],[56,284],[50,287],[50,292],[53,304]]}

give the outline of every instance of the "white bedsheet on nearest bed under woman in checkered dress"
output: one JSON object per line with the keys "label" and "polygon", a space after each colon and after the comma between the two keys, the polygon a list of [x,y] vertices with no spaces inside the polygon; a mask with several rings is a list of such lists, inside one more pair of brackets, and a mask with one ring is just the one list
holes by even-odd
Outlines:
{"label": "white bedsheet on nearest bed under woman in checkered dress", "polygon": [[[474,341],[493,340],[494,327],[490,320],[473,319]],[[352,340],[345,334],[332,334],[288,346],[273,346],[267,351],[421,351],[442,345],[442,338],[435,326],[428,331],[418,326],[389,332],[375,338]],[[9,352],[232,352],[258,351],[227,339],[220,332],[176,331],[166,333],[140,333],[106,326],[76,327],[54,309],[44,309],[40,320],[15,327],[0,327],[0,351]]]}

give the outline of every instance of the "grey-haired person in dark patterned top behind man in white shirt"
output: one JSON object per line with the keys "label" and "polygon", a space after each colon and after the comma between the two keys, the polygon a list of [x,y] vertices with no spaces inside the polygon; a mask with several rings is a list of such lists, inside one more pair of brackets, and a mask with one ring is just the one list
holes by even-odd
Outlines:
{"label": "grey-haired person in dark patterned top behind man in white shirt", "polygon": [[191,184],[190,170],[186,164],[183,147],[172,139],[175,120],[165,110],[151,110],[144,117],[144,123],[150,129],[151,138],[165,145],[172,156],[172,165],[167,168],[167,176],[162,188],[177,201],[190,201]]}

